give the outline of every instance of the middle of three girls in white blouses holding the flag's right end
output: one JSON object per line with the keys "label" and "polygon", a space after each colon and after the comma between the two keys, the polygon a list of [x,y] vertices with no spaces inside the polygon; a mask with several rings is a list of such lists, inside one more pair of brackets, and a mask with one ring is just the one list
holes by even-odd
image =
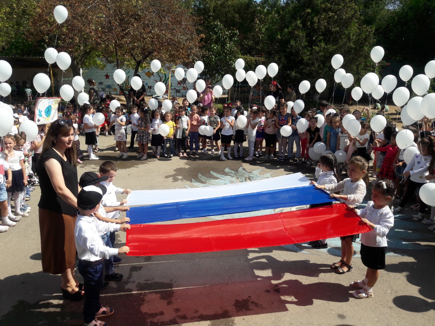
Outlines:
{"label": "middle of three girls in white blouses holding the flag's right end", "polygon": [[[348,175],[349,178],[337,184],[317,185],[316,188],[331,191],[331,198],[338,198],[343,203],[358,206],[361,204],[367,191],[368,162],[361,156],[352,157],[348,164]],[[338,190],[343,190],[343,194],[336,195],[333,193]],[[331,265],[331,269],[335,269],[335,273],[344,274],[352,270],[353,243],[358,236],[358,234],[354,234],[340,237],[341,259],[338,263]]]}

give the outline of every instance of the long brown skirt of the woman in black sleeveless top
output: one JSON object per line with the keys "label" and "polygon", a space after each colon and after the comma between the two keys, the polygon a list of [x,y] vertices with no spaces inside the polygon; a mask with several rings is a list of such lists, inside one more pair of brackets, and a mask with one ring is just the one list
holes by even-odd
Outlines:
{"label": "long brown skirt of the woman in black sleeveless top", "polygon": [[76,243],[74,228],[77,216],[39,209],[42,271],[57,275],[74,266]]}

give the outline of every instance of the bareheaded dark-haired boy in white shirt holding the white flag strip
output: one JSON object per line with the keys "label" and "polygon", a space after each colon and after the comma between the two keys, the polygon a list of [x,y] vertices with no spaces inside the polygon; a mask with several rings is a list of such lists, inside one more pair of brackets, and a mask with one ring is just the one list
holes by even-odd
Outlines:
{"label": "bareheaded dark-haired boy in white shirt holding the white flag strip", "polygon": [[[105,161],[100,165],[100,176],[107,176],[107,181],[102,181],[101,184],[106,187],[107,192],[103,196],[103,200],[101,200],[101,204],[105,207],[114,207],[114,206],[123,206],[127,203],[127,200],[123,199],[120,202],[116,198],[117,193],[131,193],[130,189],[121,189],[113,185],[113,180],[116,176],[116,165],[112,161]],[[119,210],[115,210],[114,212],[107,213],[107,217],[109,219],[117,219],[120,216]],[[110,242],[112,246],[115,246],[115,232],[110,232]],[[118,256],[113,257],[113,263],[119,264],[122,261]],[[106,281],[110,281],[111,279],[107,276],[105,277]]]}

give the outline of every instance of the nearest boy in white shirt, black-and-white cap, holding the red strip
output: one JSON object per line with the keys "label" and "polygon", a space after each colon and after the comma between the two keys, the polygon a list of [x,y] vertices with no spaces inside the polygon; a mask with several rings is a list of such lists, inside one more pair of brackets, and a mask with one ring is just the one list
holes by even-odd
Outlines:
{"label": "nearest boy in white shirt, black-and-white cap, holding the red strip", "polygon": [[122,246],[119,249],[104,245],[99,232],[110,232],[130,229],[129,224],[107,223],[97,220],[94,216],[100,208],[101,199],[106,193],[106,187],[85,186],[77,196],[77,222],[74,230],[79,263],[77,269],[84,279],[85,298],[83,316],[85,326],[102,325],[98,317],[109,316],[114,309],[102,307],[100,304],[100,289],[103,284],[103,259],[128,253],[130,249]]}

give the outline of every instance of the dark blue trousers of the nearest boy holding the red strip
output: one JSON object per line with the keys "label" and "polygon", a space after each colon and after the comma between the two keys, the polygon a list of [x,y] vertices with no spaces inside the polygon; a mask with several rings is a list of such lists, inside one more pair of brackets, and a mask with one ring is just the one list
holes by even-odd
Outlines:
{"label": "dark blue trousers of the nearest boy holding the red strip", "polygon": [[77,269],[84,279],[83,317],[84,322],[88,324],[95,319],[96,313],[101,308],[100,289],[103,285],[103,259],[98,262],[79,260]]}

